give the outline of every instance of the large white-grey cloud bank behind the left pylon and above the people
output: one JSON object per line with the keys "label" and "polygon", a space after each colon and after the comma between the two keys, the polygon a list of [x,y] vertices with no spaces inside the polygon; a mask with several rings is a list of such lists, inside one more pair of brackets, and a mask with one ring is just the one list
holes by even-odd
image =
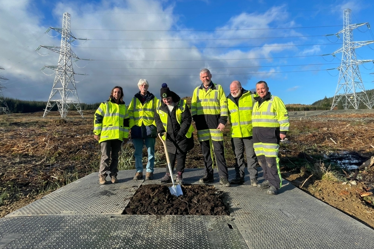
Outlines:
{"label": "large white-grey cloud bank behind the left pylon and above the people", "polygon": [[[0,47],[3,51],[0,65],[6,69],[2,70],[1,74],[10,79],[6,84],[8,88],[4,91],[4,95],[19,99],[47,100],[54,80],[54,71],[43,70],[45,73],[53,74],[46,76],[39,69],[45,65],[57,65],[59,55],[42,48],[39,50],[41,54],[49,54],[42,57],[34,52],[34,49],[39,45],[60,46],[60,36],[50,38],[43,35],[46,29],[40,24],[43,15],[32,11],[30,9],[31,3],[32,1],[28,0],[4,0],[0,5],[0,32],[2,34]],[[288,20],[286,12],[283,13],[284,6],[273,7],[268,12],[261,14],[241,13],[233,16],[227,20],[225,25],[217,27],[212,32],[174,32],[171,30],[174,30],[175,27],[180,28],[182,25],[178,16],[172,14],[174,5],[165,7],[165,4],[165,2],[157,0],[108,0],[86,4],[79,1],[60,1],[55,4],[53,18],[59,20],[58,27],[61,27],[62,14],[68,12],[71,14],[73,34],[76,37],[91,39],[85,43],[74,41],[74,44],[81,46],[72,46],[73,51],[80,58],[94,59],[89,63],[87,61],[76,62],[79,67],[86,65],[84,68],[73,65],[76,73],[88,74],[83,81],[76,84],[80,102],[103,101],[107,99],[109,91],[114,85],[120,85],[125,89],[125,101],[128,103],[138,91],[137,83],[140,78],[148,80],[150,91],[157,97],[159,97],[161,84],[164,82],[181,97],[191,96],[193,89],[201,83],[199,80],[201,68],[211,69],[212,80],[223,85],[225,91],[228,92],[229,84],[233,80],[245,83],[251,78],[251,73],[275,72],[275,69],[259,71],[260,60],[232,59],[269,57],[273,53],[293,49],[291,46],[261,46],[264,41],[266,41],[266,45],[270,46],[293,44],[280,41],[272,42],[266,39],[250,39],[244,42],[217,40],[219,38],[268,37],[273,31],[267,28],[292,27],[295,24]],[[262,29],[238,30],[251,28]],[[105,29],[105,31],[89,29]],[[120,31],[124,29],[165,31]],[[184,27],[184,29],[191,28]],[[217,29],[235,30],[218,31]],[[292,30],[285,30],[281,30],[277,35],[286,36],[296,33]],[[56,32],[50,31],[49,34],[56,35]],[[40,36],[41,38],[39,38]],[[203,42],[186,40],[203,38],[214,40]],[[258,44],[260,46],[243,49],[204,48],[204,46],[244,46],[243,44],[247,46]],[[116,49],[108,49],[111,47]],[[120,49],[121,47],[122,49]],[[123,47],[127,47],[127,49]],[[165,49],[146,49],[151,47]],[[188,49],[166,49],[170,47]],[[264,74],[263,76],[275,77],[275,75]],[[75,75],[76,81],[80,81],[82,78],[81,75]]]}

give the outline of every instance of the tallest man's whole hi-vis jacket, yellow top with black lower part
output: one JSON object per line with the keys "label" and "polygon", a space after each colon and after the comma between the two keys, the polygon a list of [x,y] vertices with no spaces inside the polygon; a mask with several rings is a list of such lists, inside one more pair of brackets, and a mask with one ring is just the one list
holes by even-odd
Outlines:
{"label": "tallest man's whole hi-vis jacket, yellow top with black lower part", "polygon": [[[201,85],[193,91],[191,99],[191,115],[196,123],[206,122],[209,129],[217,129],[219,123],[226,125],[227,122],[227,99],[221,85],[211,83],[212,87],[207,91]],[[211,115],[211,118],[207,116]],[[217,121],[211,124],[213,120]],[[206,128],[203,128],[206,129]]]}

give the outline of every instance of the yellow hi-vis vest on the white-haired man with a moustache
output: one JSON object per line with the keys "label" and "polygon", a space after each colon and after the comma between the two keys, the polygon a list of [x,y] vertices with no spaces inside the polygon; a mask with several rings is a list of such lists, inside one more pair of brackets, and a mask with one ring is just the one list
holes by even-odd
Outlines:
{"label": "yellow hi-vis vest on the white-haired man with a moustache", "polygon": [[152,100],[142,104],[137,97],[132,98],[129,105],[130,128],[134,125],[154,125],[154,110],[158,105],[159,100],[154,97]]}

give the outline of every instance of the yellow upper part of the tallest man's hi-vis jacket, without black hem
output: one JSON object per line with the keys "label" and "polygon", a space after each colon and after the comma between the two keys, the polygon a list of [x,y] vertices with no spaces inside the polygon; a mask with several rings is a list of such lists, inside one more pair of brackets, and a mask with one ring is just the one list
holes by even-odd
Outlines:
{"label": "yellow upper part of the tallest man's hi-vis jacket, without black hem", "polygon": [[221,115],[227,116],[227,100],[221,85],[214,84],[215,89],[208,91],[196,87],[191,99],[191,115]]}

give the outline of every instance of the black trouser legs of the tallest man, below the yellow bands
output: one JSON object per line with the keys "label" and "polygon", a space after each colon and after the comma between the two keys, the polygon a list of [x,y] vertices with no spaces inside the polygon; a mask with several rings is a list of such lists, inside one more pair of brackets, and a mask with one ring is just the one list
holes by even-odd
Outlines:
{"label": "black trouser legs of the tallest man, below the yellow bands", "polygon": [[[204,156],[204,166],[205,174],[213,175],[213,160],[211,156],[211,146],[210,141],[200,141],[201,151]],[[227,164],[225,158],[225,150],[223,146],[223,141],[214,141],[212,140],[212,146],[215,156],[215,161],[217,162],[218,175],[224,178],[228,178],[229,174],[227,172]]]}

